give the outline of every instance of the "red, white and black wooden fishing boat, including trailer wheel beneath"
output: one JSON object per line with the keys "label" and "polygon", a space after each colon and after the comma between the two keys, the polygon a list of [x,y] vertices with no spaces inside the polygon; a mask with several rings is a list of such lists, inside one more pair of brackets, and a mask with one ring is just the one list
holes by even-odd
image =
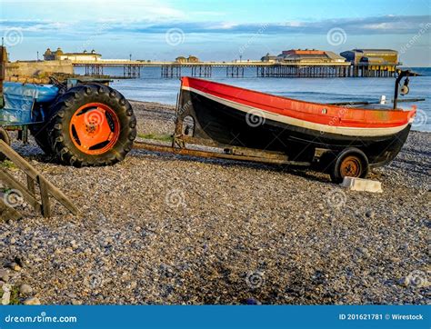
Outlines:
{"label": "red, white and black wooden fishing boat, including trailer wheel beneath", "polygon": [[[394,103],[402,77],[407,77],[403,90],[408,89],[408,73],[400,74]],[[293,163],[315,164],[340,181],[364,177],[369,167],[394,159],[415,115],[415,106],[405,111],[396,105],[319,104],[183,77],[175,136],[226,147],[231,154],[236,149],[283,154]]]}

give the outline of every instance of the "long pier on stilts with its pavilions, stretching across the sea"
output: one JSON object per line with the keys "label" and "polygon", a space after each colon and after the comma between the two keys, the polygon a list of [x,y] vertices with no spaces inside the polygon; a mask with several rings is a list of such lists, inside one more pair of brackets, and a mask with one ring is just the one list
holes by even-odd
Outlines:
{"label": "long pier on stilts with its pavilions, stretching across the sea", "polygon": [[[174,61],[150,61],[127,59],[102,59],[92,50],[82,53],[65,53],[46,49],[45,62],[66,61],[73,67],[84,67],[85,75],[103,76],[105,68],[123,68],[123,75],[115,78],[139,78],[145,69],[157,67],[164,78],[179,78],[183,75],[209,78],[218,75],[241,78],[256,77],[390,77],[394,76],[398,52],[391,49],[352,49],[337,55],[332,51],[318,49],[289,49],[280,55],[264,55],[259,60],[232,62],[203,62],[195,55],[179,55]],[[250,75],[252,73],[252,75]]]}

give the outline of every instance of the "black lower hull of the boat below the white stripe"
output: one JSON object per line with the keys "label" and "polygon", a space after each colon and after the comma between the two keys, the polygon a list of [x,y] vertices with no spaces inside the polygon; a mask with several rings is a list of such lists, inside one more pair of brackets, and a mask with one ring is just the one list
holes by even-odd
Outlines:
{"label": "black lower hull of the boat below the white stripe", "polygon": [[195,119],[195,137],[223,145],[281,151],[295,161],[312,161],[316,148],[337,152],[356,147],[367,155],[370,165],[385,165],[398,154],[411,126],[394,135],[355,137],[261,120],[187,90],[182,91],[180,103],[180,109],[186,108],[185,115]]}

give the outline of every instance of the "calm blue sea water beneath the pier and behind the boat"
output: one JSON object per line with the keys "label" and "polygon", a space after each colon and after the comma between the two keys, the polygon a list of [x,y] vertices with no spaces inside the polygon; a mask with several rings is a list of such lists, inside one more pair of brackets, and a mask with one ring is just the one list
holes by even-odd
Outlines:
{"label": "calm blue sea water beneath the pier and behind the boat", "polygon": [[[431,132],[431,67],[409,67],[421,76],[410,77],[410,93],[402,98],[425,98],[416,103],[399,103],[399,107],[417,106],[417,115],[412,129]],[[76,74],[84,74],[84,69],[76,68]],[[126,98],[175,105],[180,87],[179,78],[161,77],[159,67],[141,69],[141,77],[136,79],[114,79],[111,84]],[[191,75],[187,68],[182,75]],[[105,68],[105,75],[123,75],[123,68]],[[377,102],[381,95],[386,100],[394,97],[395,78],[294,78],[256,77],[256,68],[245,68],[244,77],[226,77],[226,68],[213,68],[212,77],[205,78],[228,85],[236,85],[264,93],[318,103],[336,102]]]}

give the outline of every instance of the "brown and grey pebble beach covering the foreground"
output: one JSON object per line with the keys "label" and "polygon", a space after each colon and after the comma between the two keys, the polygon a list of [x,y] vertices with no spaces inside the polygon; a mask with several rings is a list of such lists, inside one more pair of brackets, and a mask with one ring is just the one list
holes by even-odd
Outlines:
{"label": "brown and grey pebble beach covering the foreground", "polygon": [[[173,133],[175,106],[131,104],[138,139]],[[26,304],[429,304],[430,144],[411,132],[371,194],[311,170],[143,150],[68,167],[15,142],[82,214],[19,205],[23,219],[0,223],[0,287]]]}

